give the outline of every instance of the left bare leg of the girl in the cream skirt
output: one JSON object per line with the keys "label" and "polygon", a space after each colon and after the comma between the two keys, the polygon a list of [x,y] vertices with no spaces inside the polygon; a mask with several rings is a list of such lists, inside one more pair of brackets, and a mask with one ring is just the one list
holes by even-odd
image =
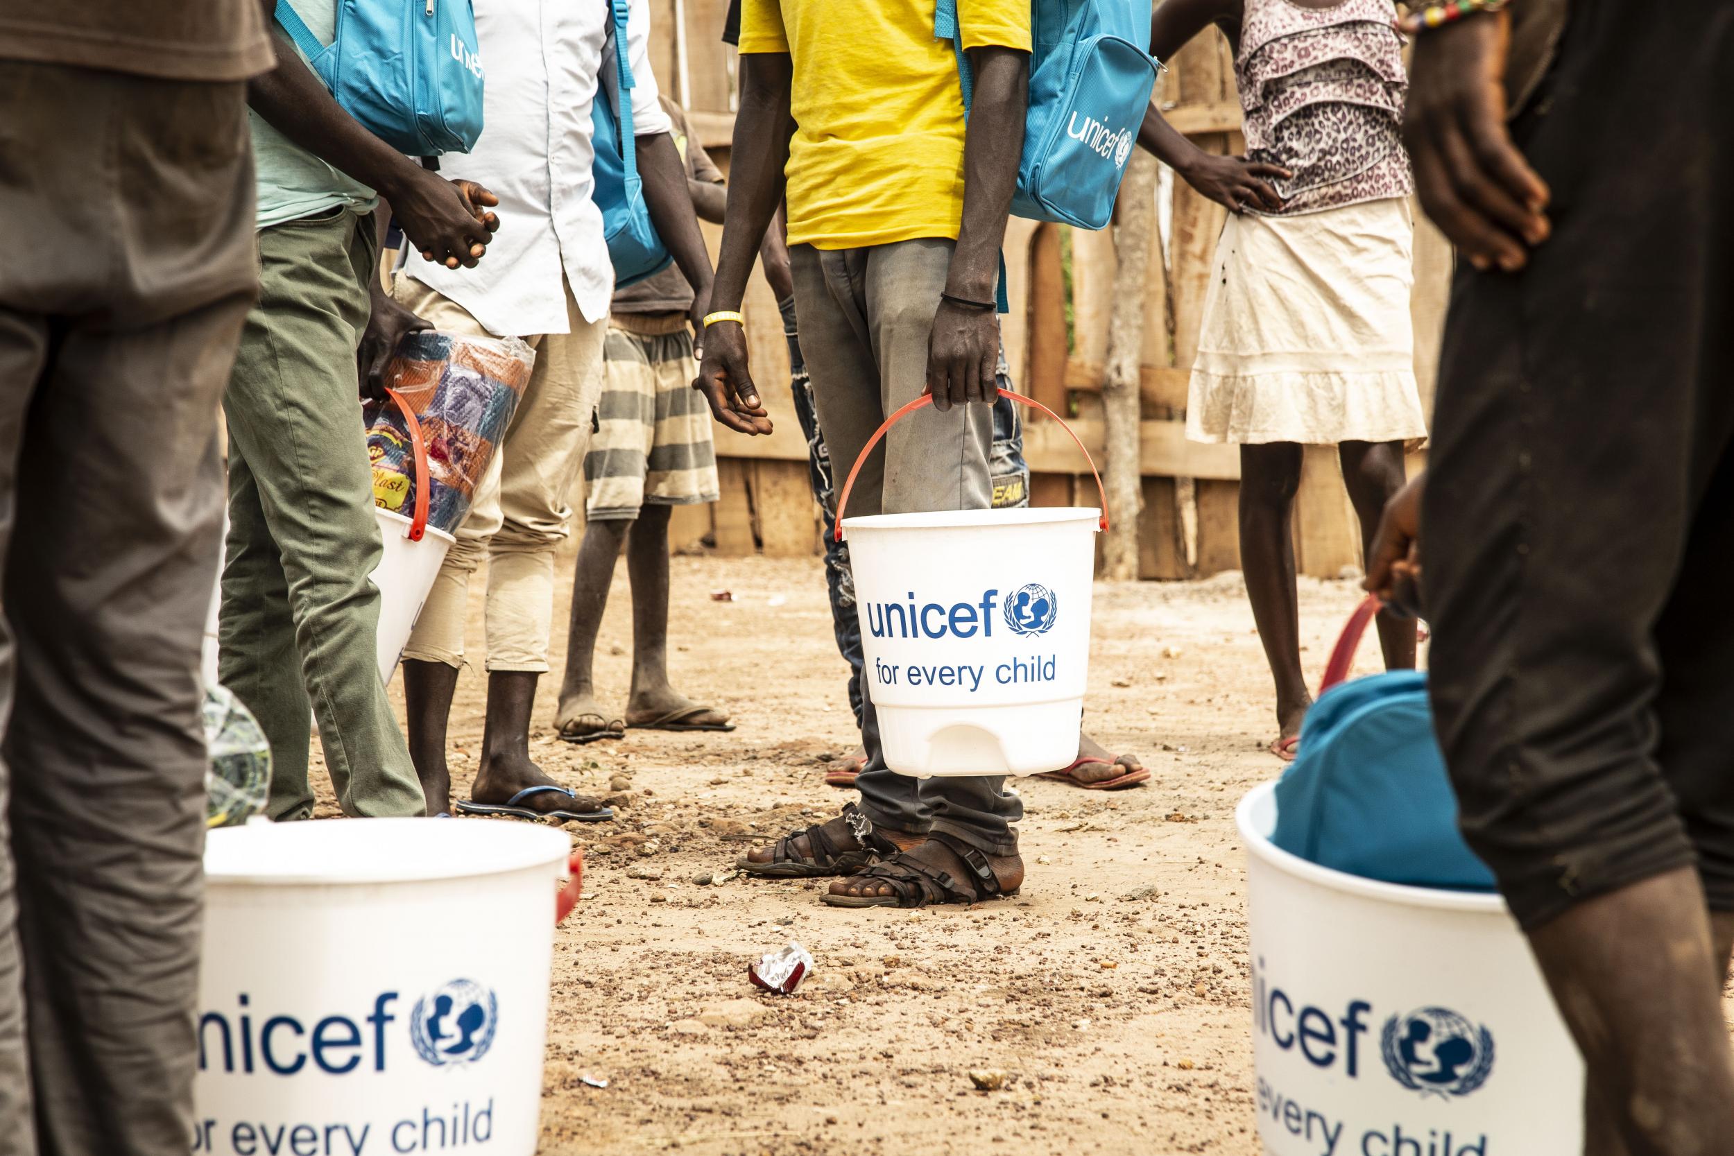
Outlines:
{"label": "left bare leg of the girl in the cream skirt", "polygon": [[1252,620],[1276,681],[1281,738],[1300,733],[1313,705],[1300,672],[1300,598],[1295,593],[1294,503],[1300,489],[1300,445],[1240,447],[1240,565]]}

